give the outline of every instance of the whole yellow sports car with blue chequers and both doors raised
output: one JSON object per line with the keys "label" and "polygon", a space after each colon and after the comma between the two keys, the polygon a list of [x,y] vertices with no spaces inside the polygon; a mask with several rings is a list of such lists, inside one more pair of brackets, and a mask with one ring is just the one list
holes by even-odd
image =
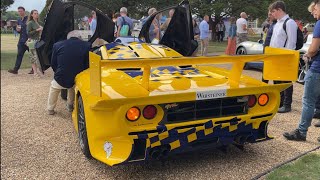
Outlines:
{"label": "whole yellow sports car with blue chequers and both doors raised", "polygon": [[[157,30],[154,22],[171,9],[168,28],[151,35]],[[97,13],[97,28],[90,35],[85,17],[91,10]],[[262,60],[265,79],[297,79],[297,51],[189,57],[197,42],[187,1],[153,14],[139,37],[115,39],[114,23],[100,10],[54,0],[37,44],[43,69],[50,66],[53,43],[72,30],[83,31],[83,39],[93,44],[90,67],[75,79],[74,127],[85,156],[110,166],[269,140],[267,127],[280,92],[291,84],[265,84],[242,75],[243,66]]]}

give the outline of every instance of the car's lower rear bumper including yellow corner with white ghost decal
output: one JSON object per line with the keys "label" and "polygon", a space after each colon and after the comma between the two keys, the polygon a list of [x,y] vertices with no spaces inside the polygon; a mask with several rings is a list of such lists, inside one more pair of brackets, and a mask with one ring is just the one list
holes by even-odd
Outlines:
{"label": "car's lower rear bumper including yellow corner with white ghost decal", "polygon": [[[267,126],[273,116],[269,113],[224,121],[198,121],[201,123],[185,126],[159,125],[154,129],[127,132],[124,136],[96,138],[90,143],[90,151],[94,158],[113,166],[231,144],[242,146],[271,139]],[[106,144],[112,146],[110,154]]]}

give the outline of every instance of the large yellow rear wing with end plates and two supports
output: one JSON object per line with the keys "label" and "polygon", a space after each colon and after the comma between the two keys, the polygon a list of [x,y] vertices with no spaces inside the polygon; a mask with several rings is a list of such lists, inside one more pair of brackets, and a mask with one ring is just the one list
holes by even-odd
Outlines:
{"label": "large yellow rear wing with end plates and two supports", "polygon": [[90,90],[93,95],[101,97],[101,67],[107,69],[142,68],[141,85],[149,89],[152,67],[186,66],[205,64],[232,64],[228,75],[229,84],[239,87],[243,67],[247,62],[263,61],[263,77],[266,80],[295,81],[298,76],[299,52],[295,50],[266,47],[265,54],[244,56],[178,57],[150,58],[135,60],[102,60],[101,56],[90,52]]}

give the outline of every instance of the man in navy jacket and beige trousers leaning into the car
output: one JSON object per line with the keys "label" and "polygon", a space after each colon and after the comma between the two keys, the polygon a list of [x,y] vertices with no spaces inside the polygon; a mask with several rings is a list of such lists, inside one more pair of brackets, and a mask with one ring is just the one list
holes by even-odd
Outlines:
{"label": "man in navy jacket and beige trousers leaning into the car", "polygon": [[54,78],[51,82],[47,111],[55,114],[57,100],[61,89],[68,89],[67,109],[73,111],[74,79],[77,74],[89,67],[89,50],[91,44],[81,40],[77,31],[69,32],[68,40],[59,41],[53,45],[51,67]]}

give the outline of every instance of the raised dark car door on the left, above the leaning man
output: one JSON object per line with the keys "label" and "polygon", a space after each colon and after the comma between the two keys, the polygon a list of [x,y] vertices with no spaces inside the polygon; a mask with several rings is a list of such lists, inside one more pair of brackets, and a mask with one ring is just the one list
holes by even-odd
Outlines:
{"label": "raised dark car door on the left, above the leaning man", "polygon": [[[90,16],[96,12],[96,29],[90,30]],[[92,21],[92,19],[91,19]],[[70,31],[79,31],[81,38],[90,43],[103,39],[107,42],[114,40],[114,23],[99,9],[83,2],[63,2],[53,0],[45,18],[40,41],[36,44],[42,70],[51,64],[53,44],[67,39]]]}

